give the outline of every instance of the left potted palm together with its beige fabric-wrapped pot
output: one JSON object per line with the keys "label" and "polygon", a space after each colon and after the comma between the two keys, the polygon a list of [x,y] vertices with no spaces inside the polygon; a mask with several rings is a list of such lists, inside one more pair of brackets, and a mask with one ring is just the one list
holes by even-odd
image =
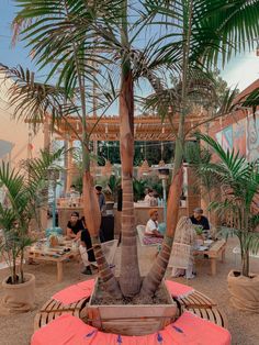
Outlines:
{"label": "left potted palm together with its beige fabric-wrapped pot", "polygon": [[4,163],[0,167],[0,182],[7,199],[5,207],[0,203],[0,253],[10,269],[10,275],[2,281],[1,307],[5,313],[26,312],[34,307],[35,277],[23,270],[24,253],[32,244],[30,223],[43,202],[48,167],[61,153],[63,149],[55,154],[42,152],[40,158],[26,160],[25,169],[19,171]]}

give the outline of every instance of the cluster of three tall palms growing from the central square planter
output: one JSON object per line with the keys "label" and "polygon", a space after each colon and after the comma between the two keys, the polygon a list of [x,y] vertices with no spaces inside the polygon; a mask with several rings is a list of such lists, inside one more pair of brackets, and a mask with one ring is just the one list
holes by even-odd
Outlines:
{"label": "cluster of three tall palms growing from the central square planter", "polygon": [[[182,185],[182,156],[188,130],[187,116],[191,113],[196,99],[204,99],[209,93],[213,97],[213,80],[210,67],[216,63],[219,54],[223,62],[233,53],[244,48],[240,41],[252,45],[254,36],[258,36],[258,1],[153,1],[145,0],[136,5],[127,0],[82,1],[82,0],[19,0],[21,11],[18,22],[29,21],[23,36],[34,52],[34,59],[40,66],[54,62],[49,79],[63,66],[58,86],[64,88],[66,101],[79,90],[79,101],[83,127],[86,123],[87,85],[92,82],[93,65],[101,67],[94,73],[100,82],[100,76],[105,75],[111,84],[111,93],[115,92],[115,78],[111,71],[119,70],[120,85],[120,119],[121,119],[121,159],[124,209],[122,216],[122,263],[120,287],[104,265],[104,281],[110,285],[110,292],[117,297],[133,296],[139,292],[150,294],[157,290],[165,275],[170,257],[173,233],[177,225],[177,214]],[[147,44],[138,44],[142,35],[154,26],[155,34]],[[160,30],[160,31],[159,31]],[[157,37],[158,33],[158,37]],[[91,68],[89,67],[91,66]],[[114,68],[114,69],[113,69]],[[178,77],[176,88],[166,88],[168,71]],[[166,77],[165,77],[166,76]],[[176,135],[176,157],[172,183],[168,200],[167,233],[162,249],[158,255],[150,272],[140,285],[136,232],[134,230],[134,204],[132,187],[132,167],[134,153],[134,87],[145,78],[154,88],[160,101],[155,102],[160,113],[169,114],[172,131]],[[199,97],[198,97],[199,96]],[[78,104],[78,102],[76,102]],[[75,105],[75,104],[74,104]],[[226,112],[229,98],[225,105],[213,112],[215,119]],[[69,108],[69,107],[68,107]],[[156,107],[154,107],[156,108]],[[57,107],[57,109],[59,109]],[[60,111],[59,111],[60,113]],[[35,112],[34,112],[35,115]],[[179,118],[179,124],[174,119]],[[64,119],[66,118],[63,116]],[[199,126],[202,123],[195,123]],[[85,131],[85,130],[83,130]],[[87,131],[83,132],[82,143],[88,153]],[[86,157],[83,168],[85,198],[90,200],[92,185],[89,174],[89,159]],[[85,199],[86,200],[86,199]],[[95,213],[93,213],[95,211]],[[97,202],[86,203],[86,218],[89,216],[89,230],[95,238],[100,218]],[[97,248],[97,238],[93,245]],[[98,249],[99,252],[99,249]],[[103,260],[99,260],[102,265]],[[128,275],[131,271],[131,275]]]}

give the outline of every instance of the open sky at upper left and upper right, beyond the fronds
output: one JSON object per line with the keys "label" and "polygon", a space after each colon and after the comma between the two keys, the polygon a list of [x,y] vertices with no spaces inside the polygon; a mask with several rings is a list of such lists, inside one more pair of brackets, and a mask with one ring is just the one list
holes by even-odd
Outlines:
{"label": "open sky at upper left and upper right, beyond the fronds", "polygon": [[[11,22],[16,11],[13,0],[0,0],[0,63],[11,67],[22,65],[35,70],[29,51],[24,47],[25,42],[19,42],[15,47],[11,47]],[[41,81],[44,80],[45,73],[37,73]],[[222,70],[222,77],[228,86],[237,86],[239,90],[244,90],[259,78],[259,56],[256,56],[256,52],[247,51],[234,57]]]}

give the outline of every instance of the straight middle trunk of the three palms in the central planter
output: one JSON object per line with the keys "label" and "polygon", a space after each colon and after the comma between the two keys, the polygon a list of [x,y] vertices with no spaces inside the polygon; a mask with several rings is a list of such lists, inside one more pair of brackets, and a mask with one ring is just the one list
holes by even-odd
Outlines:
{"label": "straight middle trunk of the three palms in the central planter", "polygon": [[140,274],[137,257],[137,240],[134,219],[133,198],[133,158],[134,158],[134,101],[133,77],[131,69],[122,75],[120,93],[121,136],[120,151],[122,160],[122,255],[120,286],[122,293],[132,297],[139,292]]}

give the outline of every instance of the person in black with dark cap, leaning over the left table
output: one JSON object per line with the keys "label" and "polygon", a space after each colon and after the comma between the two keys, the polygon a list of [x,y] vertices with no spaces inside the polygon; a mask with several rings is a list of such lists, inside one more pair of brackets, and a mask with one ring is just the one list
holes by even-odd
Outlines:
{"label": "person in black with dark cap, leaning over the left table", "polygon": [[92,249],[91,236],[85,223],[85,218],[80,220],[78,212],[72,212],[71,219],[67,223],[67,237],[80,241],[79,252],[85,265],[85,269],[81,272],[83,275],[91,275],[92,271],[89,263],[95,263],[95,257]]}

